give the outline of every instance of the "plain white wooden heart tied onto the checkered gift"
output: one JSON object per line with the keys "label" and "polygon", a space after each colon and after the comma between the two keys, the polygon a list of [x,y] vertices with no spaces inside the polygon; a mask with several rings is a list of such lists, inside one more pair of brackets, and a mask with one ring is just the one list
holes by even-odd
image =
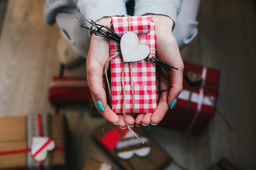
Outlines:
{"label": "plain white wooden heart tied onto the checkered gift", "polygon": [[122,35],[120,48],[123,62],[141,61],[150,53],[150,47],[147,44],[139,44],[137,34],[131,31]]}

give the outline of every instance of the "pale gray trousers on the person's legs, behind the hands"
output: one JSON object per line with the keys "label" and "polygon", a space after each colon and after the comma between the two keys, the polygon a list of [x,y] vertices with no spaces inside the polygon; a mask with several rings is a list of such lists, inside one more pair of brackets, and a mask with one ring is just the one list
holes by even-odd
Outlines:
{"label": "pale gray trousers on the person's legs, behind the hands", "polygon": [[[181,10],[177,15],[173,35],[181,49],[184,45],[191,42],[197,35],[197,11],[200,0],[183,0]],[[73,50],[82,57],[87,57],[90,44],[90,34],[85,28],[80,28],[81,15],[76,8],[66,8],[56,16],[56,22],[59,25],[60,33],[65,40],[69,42]]]}

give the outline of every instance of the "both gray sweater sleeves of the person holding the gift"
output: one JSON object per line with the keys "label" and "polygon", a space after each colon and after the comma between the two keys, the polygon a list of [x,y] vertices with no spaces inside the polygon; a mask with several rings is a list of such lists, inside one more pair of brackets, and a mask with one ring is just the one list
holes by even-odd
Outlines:
{"label": "both gray sweater sleeves of the person holding the gift", "polygon": [[[98,20],[104,16],[126,16],[127,0],[47,0],[44,5],[44,20],[55,23],[56,15],[64,8],[79,8],[88,20]],[[182,0],[135,0],[134,16],[160,14],[169,16],[174,22],[180,11]]]}

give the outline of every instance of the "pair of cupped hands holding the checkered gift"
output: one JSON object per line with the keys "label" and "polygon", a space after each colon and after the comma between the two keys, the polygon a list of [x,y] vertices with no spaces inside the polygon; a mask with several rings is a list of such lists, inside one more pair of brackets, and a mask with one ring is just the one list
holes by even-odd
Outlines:
{"label": "pair of cupped hands holding the checkered gift", "polygon": [[[137,117],[131,117],[126,114],[126,121],[129,126],[158,124],[170,108],[172,101],[177,99],[183,88],[183,61],[180,56],[179,47],[175,37],[172,35],[172,28],[174,22],[171,18],[164,15],[154,15],[152,21],[155,24],[156,36],[156,49],[157,57],[170,65],[173,65],[179,70],[168,71],[163,68],[157,70],[157,97],[158,107],[154,113],[138,113]],[[110,26],[110,17],[101,18],[97,21],[98,24]],[[90,41],[90,48],[86,60],[87,80],[92,93],[94,104],[101,101],[104,111],[101,112],[102,116],[109,122],[118,124],[120,127],[125,128],[125,120],[122,114],[116,114],[112,111],[107,103],[106,87],[104,81],[104,66],[109,59],[109,39],[92,35]]]}

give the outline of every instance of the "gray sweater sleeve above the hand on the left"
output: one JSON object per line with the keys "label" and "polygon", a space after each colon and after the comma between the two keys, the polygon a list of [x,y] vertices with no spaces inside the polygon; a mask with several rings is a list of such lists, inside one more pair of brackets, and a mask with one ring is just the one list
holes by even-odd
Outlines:
{"label": "gray sweater sleeve above the hand on the left", "polygon": [[47,0],[44,5],[44,20],[55,23],[56,15],[64,8],[74,7],[88,20],[98,20],[104,16],[125,16],[125,0]]}

